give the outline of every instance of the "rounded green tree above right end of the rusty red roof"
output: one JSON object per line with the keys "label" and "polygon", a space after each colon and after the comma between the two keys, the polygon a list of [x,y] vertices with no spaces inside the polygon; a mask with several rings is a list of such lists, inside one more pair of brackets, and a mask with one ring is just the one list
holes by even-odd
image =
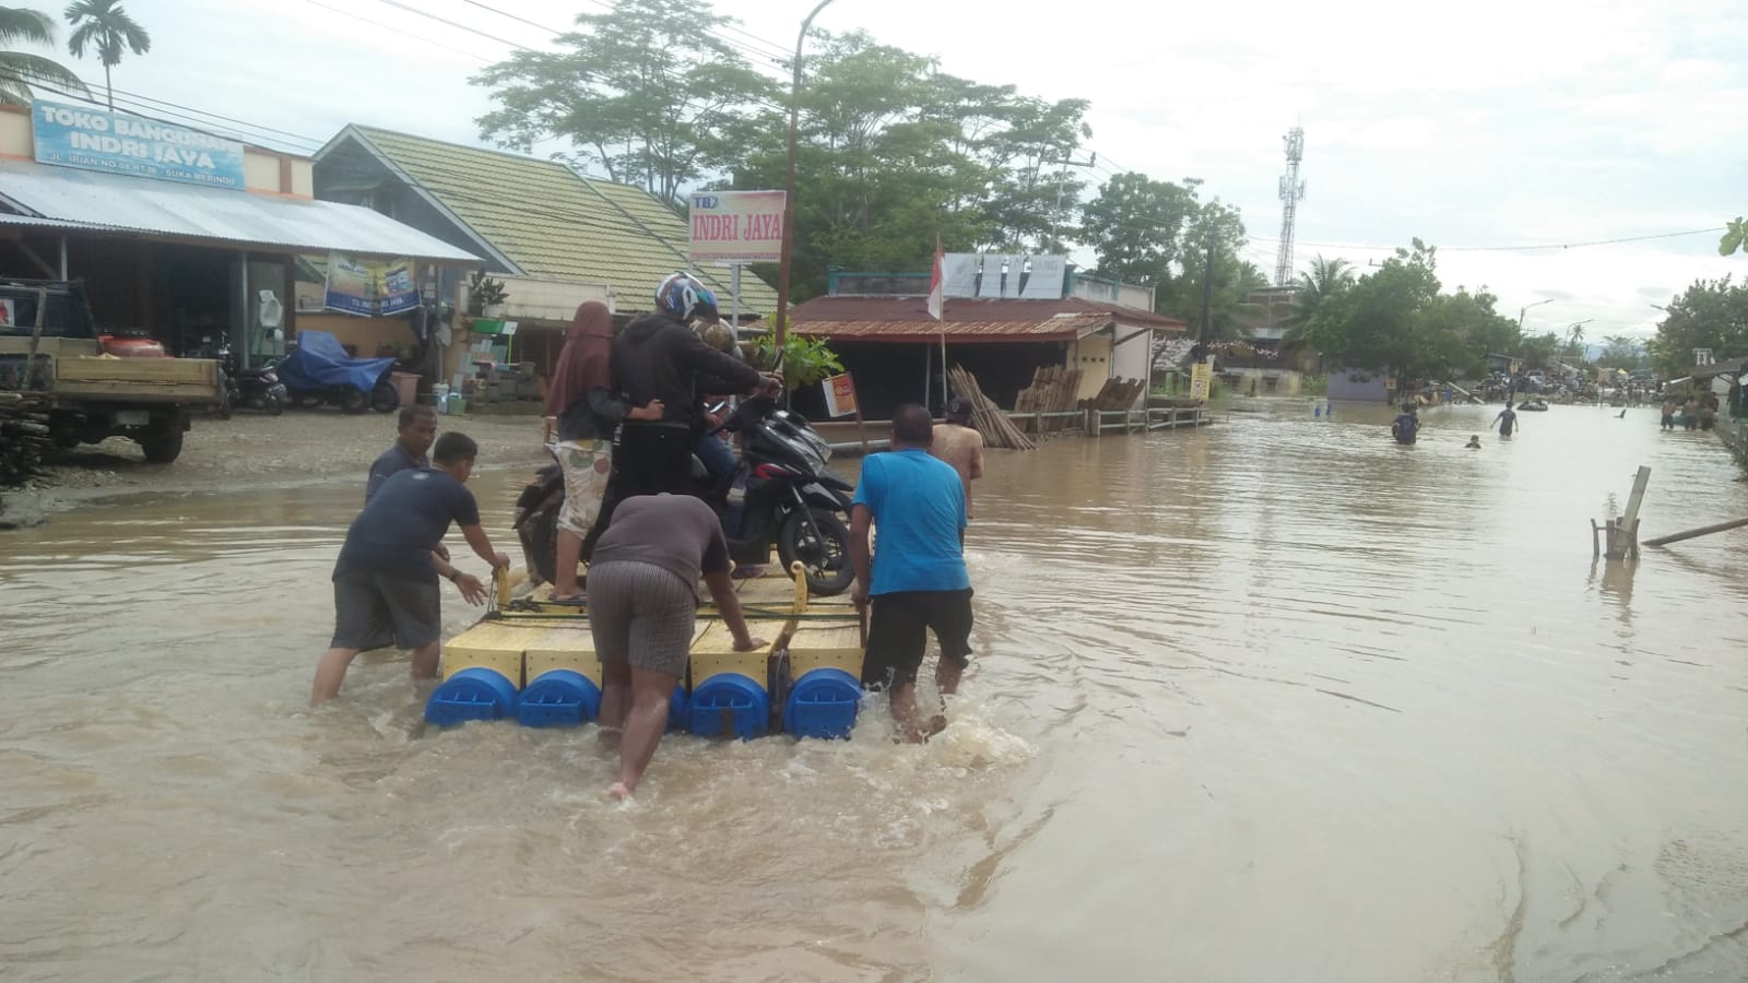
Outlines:
{"label": "rounded green tree above right end of the rusty red roof", "polygon": [[1157,283],[1182,261],[1183,231],[1201,210],[1196,178],[1180,184],[1122,173],[1080,212],[1080,238],[1098,273],[1126,283]]}

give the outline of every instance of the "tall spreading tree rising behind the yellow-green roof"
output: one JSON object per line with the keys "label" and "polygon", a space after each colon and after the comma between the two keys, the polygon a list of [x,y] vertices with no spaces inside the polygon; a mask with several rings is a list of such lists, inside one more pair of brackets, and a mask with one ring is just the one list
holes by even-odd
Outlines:
{"label": "tall spreading tree rising behind the yellow-green roof", "polygon": [[732,24],[690,0],[614,0],[579,14],[559,51],[517,51],[474,75],[498,108],[481,136],[530,150],[568,140],[580,163],[642,184],[680,206],[682,189],[736,164],[752,133],[778,128],[759,105],[778,87],[753,72],[715,30]]}

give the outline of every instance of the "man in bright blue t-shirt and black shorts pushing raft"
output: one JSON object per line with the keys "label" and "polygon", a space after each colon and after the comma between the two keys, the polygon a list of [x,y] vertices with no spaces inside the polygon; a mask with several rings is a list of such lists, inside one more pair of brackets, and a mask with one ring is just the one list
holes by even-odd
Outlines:
{"label": "man in bright blue t-shirt and black shorts pushing raft", "polygon": [[[965,530],[965,488],[951,464],[928,457],[935,422],[928,409],[905,404],[891,415],[891,451],[862,462],[862,481],[850,507],[851,600],[867,607],[869,642],[864,686],[886,686],[891,717],[907,740],[946,726],[933,715],[916,721],[916,672],[926,631],[940,642],[935,682],[942,694],[960,686],[970,663],[972,581],[960,546]],[[869,549],[869,526],[879,528],[879,554]],[[871,570],[872,567],[872,570]]]}

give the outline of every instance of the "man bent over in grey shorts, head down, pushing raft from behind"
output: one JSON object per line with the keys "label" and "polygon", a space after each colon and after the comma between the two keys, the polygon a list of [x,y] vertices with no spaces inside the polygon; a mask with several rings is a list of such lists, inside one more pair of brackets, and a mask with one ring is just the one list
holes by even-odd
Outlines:
{"label": "man bent over in grey shorts, head down, pushing raft from behind", "polygon": [[710,505],[690,495],[636,495],[614,512],[589,563],[589,631],[601,659],[601,740],[619,745],[619,780],[629,798],[668,728],[668,701],[685,675],[703,575],[734,651],[753,638],[729,577],[729,544]]}

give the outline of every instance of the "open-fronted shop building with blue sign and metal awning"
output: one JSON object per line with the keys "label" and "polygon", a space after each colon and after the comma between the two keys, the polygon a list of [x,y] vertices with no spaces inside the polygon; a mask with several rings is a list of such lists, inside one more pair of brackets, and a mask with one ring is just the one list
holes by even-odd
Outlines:
{"label": "open-fronted shop building with blue sign and metal awning", "polygon": [[[316,199],[311,157],[80,103],[0,107],[0,276],[82,280],[101,327],[171,352],[227,338],[259,364],[322,329],[358,355],[416,362],[440,273],[481,264],[381,212]],[[330,266],[393,268],[399,294],[348,289]],[[299,310],[299,280],[322,282],[320,310]]]}

